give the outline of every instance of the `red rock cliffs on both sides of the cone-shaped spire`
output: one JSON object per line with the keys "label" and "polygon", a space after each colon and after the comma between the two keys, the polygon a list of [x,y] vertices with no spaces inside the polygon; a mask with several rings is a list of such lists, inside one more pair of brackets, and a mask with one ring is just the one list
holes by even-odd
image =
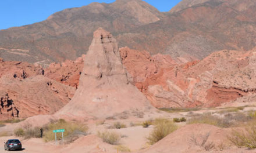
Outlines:
{"label": "red rock cliffs on both sides of the cone-shaped spire", "polygon": [[[129,72],[127,79],[155,107],[216,107],[254,100],[255,51],[222,50],[201,61],[186,61],[173,60],[169,55],[151,56],[145,51],[121,48],[120,58]],[[72,99],[74,90],[79,86],[83,59],[84,56],[76,61],[52,63],[47,68],[1,59],[0,119],[58,111]],[[108,64],[103,65],[106,74],[111,72],[109,66],[105,67]],[[96,72],[91,66],[87,68],[86,72]],[[98,72],[97,77],[101,74]]]}

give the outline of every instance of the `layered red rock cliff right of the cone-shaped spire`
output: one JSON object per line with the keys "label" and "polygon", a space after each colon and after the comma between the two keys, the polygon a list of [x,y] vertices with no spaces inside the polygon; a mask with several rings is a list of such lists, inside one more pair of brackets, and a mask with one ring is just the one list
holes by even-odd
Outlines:
{"label": "layered red rock cliff right of the cone-shaped spire", "polygon": [[222,50],[184,64],[161,54],[151,57],[128,48],[120,52],[134,84],[158,108],[216,107],[255,94],[254,50]]}

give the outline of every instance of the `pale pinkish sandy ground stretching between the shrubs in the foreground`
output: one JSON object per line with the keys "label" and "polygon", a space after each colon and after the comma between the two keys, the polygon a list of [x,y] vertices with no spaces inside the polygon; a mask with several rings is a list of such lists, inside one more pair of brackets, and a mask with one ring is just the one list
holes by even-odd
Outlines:
{"label": "pale pinkish sandy ground stretching between the shrubs in the foreground", "polygon": [[[246,107],[243,111],[248,110],[255,110],[256,107]],[[214,109],[204,109],[204,110],[198,110],[193,111],[192,114],[202,114],[204,112],[218,112],[223,110],[223,108],[214,108]],[[191,112],[179,112],[179,113],[170,113],[166,116],[165,113],[162,114],[163,116],[167,118],[175,118],[179,116],[189,116],[191,115]],[[157,118],[157,116],[155,116]],[[166,138],[165,141],[159,141],[156,145],[150,145],[147,144],[146,137],[150,134],[153,126],[150,126],[149,128],[143,128],[142,126],[130,126],[131,122],[138,123],[143,122],[144,119],[138,119],[136,121],[131,121],[129,119],[127,120],[119,120],[121,123],[125,123],[127,128],[123,129],[109,129],[109,126],[113,125],[113,123],[118,122],[116,121],[105,121],[103,125],[96,125],[95,122],[88,123],[88,127],[90,128],[90,135],[83,136],[74,141],[70,144],[55,144],[54,141],[45,143],[42,139],[29,139],[29,140],[23,140],[22,138],[18,138],[22,141],[24,150],[22,151],[14,151],[14,152],[22,152],[22,153],[30,153],[30,152],[38,152],[38,153],[48,153],[48,152],[56,152],[56,153],[72,153],[72,152],[91,152],[91,153],[99,153],[99,152],[109,152],[114,153],[117,152],[116,145],[110,145],[103,143],[101,139],[97,137],[97,132],[104,132],[105,130],[114,131],[116,133],[119,133],[122,136],[122,139],[120,140],[120,145],[125,145],[126,147],[130,148],[131,152],[161,152],[161,153],[167,153],[168,150],[173,150],[176,152],[179,152],[182,150],[182,148],[187,147],[186,150],[183,150],[183,152],[189,152],[190,148],[193,148],[193,146],[186,144],[184,145],[182,142],[189,139],[188,137],[191,132],[193,133],[201,133],[201,132],[208,132],[211,130],[211,133],[215,133],[215,136],[211,136],[211,140],[215,141],[218,139],[222,139],[222,133],[226,133],[226,129],[220,129],[216,128],[215,126],[209,126],[209,125],[197,125],[197,126],[191,126],[186,125],[186,123],[179,123],[179,126],[182,127],[177,130],[177,132],[172,133],[172,136],[169,136],[169,138]],[[186,128],[188,127],[188,128]],[[197,129],[197,130],[195,130]],[[186,134],[187,133],[187,134]],[[219,135],[219,136],[218,136]],[[10,137],[0,137],[0,153],[1,152],[7,152],[3,149],[3,143],[8,139],[17,139],[15,136]],[[217,141],[218,144],[218,141]],[[169,147],[168,147],[169,146]],[[170,148],[171,147],[171,148]],[[173,147],[173,148],[172,148]],[[144,149],[145,148],[145,149]],[[160,149],[159,149],[160,148]],[[174,148],[176,148],[174,150]],[[194,152],[204,152],[200,148],[197,150],[197,148],[194,148]],[[191,150],[192,151],[192,150]],[[120,152],[120,151],[119,151]],[[215,151],[209,151],[209,152],[215,152]],[[217,151],[218,152],[218,151]],[[220,152],[220,151],[219,151]],[[246,149],[234,149],[230,148],[228,150],[224,150],[221,152],[256,152],[256,150],[246,150]]]}

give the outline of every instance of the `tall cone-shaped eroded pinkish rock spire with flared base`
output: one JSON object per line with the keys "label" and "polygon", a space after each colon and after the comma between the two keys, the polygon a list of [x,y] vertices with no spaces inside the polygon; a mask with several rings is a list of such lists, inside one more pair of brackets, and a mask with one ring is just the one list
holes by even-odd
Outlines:
{"label": "tall cone-shaped eroded pinkish rock spire with flared base", "polygon": [[73,99],[56,115],[83,118],[106,118],[143,114],[153,107],[134,85],[123,68],[116,39],[102,28],[84,60],[80,85]]}

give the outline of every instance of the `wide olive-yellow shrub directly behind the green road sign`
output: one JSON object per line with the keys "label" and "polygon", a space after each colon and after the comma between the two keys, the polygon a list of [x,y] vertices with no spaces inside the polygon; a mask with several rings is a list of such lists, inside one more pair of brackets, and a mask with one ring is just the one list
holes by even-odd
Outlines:
{"label": "wide olive-yellow shrub directly behind the green road sign", "polygon": [[[49,123],[49,125],[45,126],[43,130],[44,140],[55,140],[55,133],[53,133],[52,130],[56,129],[65,129],[65,132],[63,133],[64,137],[77,136],[77,133],[82,133],[83,135],[86,135],[88,131],[88,127],[86,125],[77,122],[66,122],[64,119],[59,119],[59,121]],[[61,140],[61,133],[56,134],[57,139]]]}

